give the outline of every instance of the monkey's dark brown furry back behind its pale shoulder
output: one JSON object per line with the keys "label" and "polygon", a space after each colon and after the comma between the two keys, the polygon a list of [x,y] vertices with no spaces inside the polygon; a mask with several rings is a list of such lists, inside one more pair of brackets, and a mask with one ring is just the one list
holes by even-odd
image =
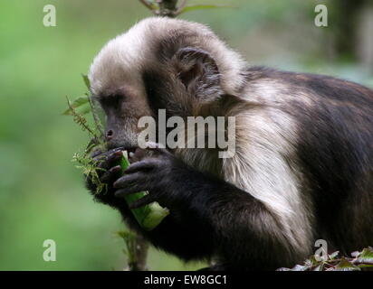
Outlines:
{"label": "monkey's dark brown furry back behind its pale shoulder", "polygon": [[247,79],[247,98],[286,112],[298,128],[295,152],[302,193],[311,195],[315,238],[345,253],[371,246],[373,90],[262,67],[249,69]]}

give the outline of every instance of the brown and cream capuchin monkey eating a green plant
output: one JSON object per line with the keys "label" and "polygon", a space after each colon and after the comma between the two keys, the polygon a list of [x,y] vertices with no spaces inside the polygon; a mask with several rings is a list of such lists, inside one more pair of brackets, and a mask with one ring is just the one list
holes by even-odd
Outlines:
{"label": "brown and cream capuchin monkey eating a green plant", "polygon": [[[306,73],[249,66],[200,23],[145,19],[91,64],[92,98],[107,116],[100,160],[120,211],[151,244],[211,270],[274,270],[310,256],[317,239],[341,254],[373,245],[373,91]],[[235,118],[235,153],[140,149],[140,117]],[[123,174],[121,149],[136,162]],[[147,152],[151,151],[151,154]],[[95,191],[88,180],[88,187]],[[123,196],[170,214],[139,227]]]}

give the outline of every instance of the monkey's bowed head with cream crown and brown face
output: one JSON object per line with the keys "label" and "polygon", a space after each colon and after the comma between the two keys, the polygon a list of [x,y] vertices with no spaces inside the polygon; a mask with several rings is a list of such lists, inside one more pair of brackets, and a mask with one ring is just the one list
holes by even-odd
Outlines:
{"label": "monkey's bowed head with cream crown and brown face", "polygon": [[100,101],[109,148],[138,146],[138,121],[158,109],[198,116],[202,107],[234,94],[245,62],[205,25],[152,17],[108,42],[91,64],[93,98]]}

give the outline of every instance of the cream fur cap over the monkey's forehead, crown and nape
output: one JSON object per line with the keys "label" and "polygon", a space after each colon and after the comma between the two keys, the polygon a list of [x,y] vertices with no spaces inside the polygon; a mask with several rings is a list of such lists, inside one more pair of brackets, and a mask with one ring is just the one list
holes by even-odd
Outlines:
{"label": "cream fur cap over the monkey's forehead, crown and nape", "polygon": [[[150,17],[135,24],[127,33],[108,42],[91,64],[89,79],[91,92],[120,89],[124,84],[143,88],[141,71],[148,63],[155,63],[154,44],[177,31],[196,33],[196,47],[209,52],[221,74],[222,88],[234,94],[244,83],[240,71],[246,67],[241,56],[229,49],[225,42],[200,23],[163,17]],[[195,36],[194,36],[195,37]]]}

